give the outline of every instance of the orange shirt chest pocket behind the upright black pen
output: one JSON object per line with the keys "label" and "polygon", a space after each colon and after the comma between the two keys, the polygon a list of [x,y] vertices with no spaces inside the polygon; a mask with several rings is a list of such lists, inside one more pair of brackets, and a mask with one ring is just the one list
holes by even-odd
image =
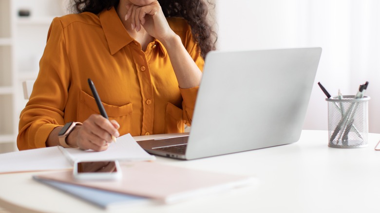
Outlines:
{"label": "orange shirt chest pocket behind the upright black pen", "polygon": [[[119,133],[125,135],[131,132],[132,125],[132,103],[123,106],[114,106],[103,103],[104,109],[110,120],[115,120],[120,124]],[[85,121],[92,114],[99,114],[95,98],[84,91],[80,91],[80,104],[78,109],[77,120]]]}

